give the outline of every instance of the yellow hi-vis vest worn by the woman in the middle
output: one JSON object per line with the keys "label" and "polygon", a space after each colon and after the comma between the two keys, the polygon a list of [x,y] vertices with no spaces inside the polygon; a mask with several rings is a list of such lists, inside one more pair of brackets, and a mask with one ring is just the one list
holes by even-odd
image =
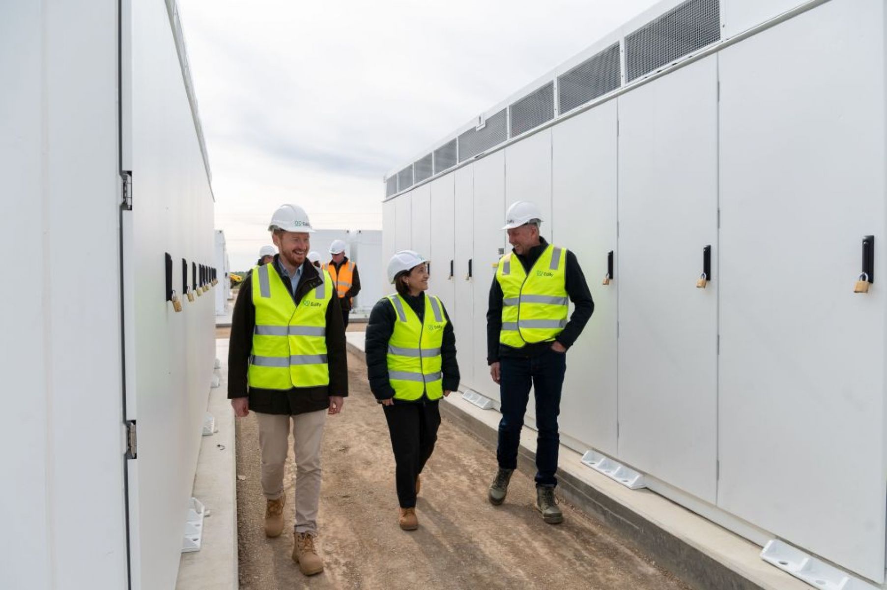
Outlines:
{"label": "yellow hi-vis vest worn by the woman in the middle", "polygon": [[440,300],[434,295],[424,296],[425,321],[420,321],[402,296],[388,296],[397,313],[387,356],[395,399],[412,401],[423,393],[428,399],[443,397],[441,343],[447,319]]}

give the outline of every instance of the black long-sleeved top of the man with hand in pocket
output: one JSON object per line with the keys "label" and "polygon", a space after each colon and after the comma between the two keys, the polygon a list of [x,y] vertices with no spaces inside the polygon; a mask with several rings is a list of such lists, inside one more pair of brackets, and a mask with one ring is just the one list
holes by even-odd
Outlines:
{"label": "black long-sleeved top of the man with hand in pocket", "polygon": [[[548,242],[545,238],[540,237],[541,242],[538,246],[530,248],[530,252],[520,255],[514,252],[523,265],[523,270],[530,274],[533,264],[536,263],[542,252],[548,248]],[[573,251],[567,250],[567,268],[565,270],[567,295],[569,300],[573,302],[573,313],[569,316],[567,326],[564,326],[561,334],[557,335],[555,340],[561,342],[564,348],[568,348],[576,342],[582,329],[592,317],[594,312],[594,301],[592,292],[588,289],[588,283],[585,282],[585,275],[582,268],[579,267],[579,261]],[[490,287],[490,304],[487,308],[487,364],[492,365],[498,362],[499,357],[534,357],[541,354],[551,347],[551,342],[534,342],[526,344],[520,349],[507,346],[499,342],[499,333],[502,331],[502,286],[498,284],[495,275],[493,276],[493,284]]]}

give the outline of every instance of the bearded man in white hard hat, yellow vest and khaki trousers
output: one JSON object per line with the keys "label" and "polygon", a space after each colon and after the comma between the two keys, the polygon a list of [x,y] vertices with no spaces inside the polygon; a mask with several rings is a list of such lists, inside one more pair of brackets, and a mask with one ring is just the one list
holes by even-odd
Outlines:
{"label": "bearded man in white hard hat, yellow vest and khaki trousers", "polygon": [[284,205],[268,226],[279,255],[243,281],[232,317],[228,397],[234,413],[255,412],[262,450],[265,534],[283,531],[284,464],[290,423],[295,455],[293,559],[305,575],[323,571],[318,534],[320,444],[326,414],[348,395],[345,334],[329,273],[307,261],[304,209]]}

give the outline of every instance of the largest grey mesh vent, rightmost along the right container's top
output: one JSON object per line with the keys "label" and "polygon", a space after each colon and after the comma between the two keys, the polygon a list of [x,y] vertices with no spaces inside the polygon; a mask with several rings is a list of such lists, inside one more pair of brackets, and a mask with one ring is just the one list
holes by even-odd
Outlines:
{"label": "largest grey mesh vent, rightmost along the right container's top", "polygon": [[687,0],[625,37],[631,82],[720,40],[718,0]]}

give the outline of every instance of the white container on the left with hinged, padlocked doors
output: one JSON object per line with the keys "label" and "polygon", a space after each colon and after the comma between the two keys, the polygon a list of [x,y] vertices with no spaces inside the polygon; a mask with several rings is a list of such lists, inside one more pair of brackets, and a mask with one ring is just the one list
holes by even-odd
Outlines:
{"label": "white container on the left with hinged, padlocked doors", "polygon": [[0,235],[30,287],[6,302],[4,587],[176,583],[215,358],[213,199],[175,7],[134,4],[0,19]]}

